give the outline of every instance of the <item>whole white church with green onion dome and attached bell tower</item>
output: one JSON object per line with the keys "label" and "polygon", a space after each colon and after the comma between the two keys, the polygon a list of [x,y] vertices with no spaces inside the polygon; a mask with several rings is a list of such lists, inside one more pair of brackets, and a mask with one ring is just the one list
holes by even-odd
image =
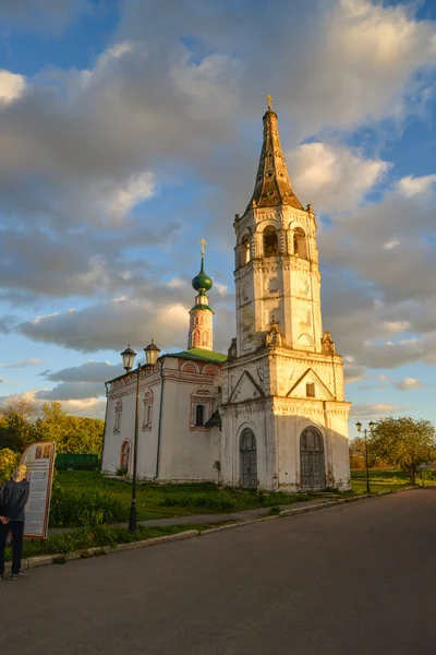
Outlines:
{"label": "whole white church with green onion dome and attached bell tower", "polygon": [[269,97],[263,120],[253,195],[234,218],[237,336],[228,355],[214,352],[203,242],[187,349],[106,383],[105,473],[132,474],[138,388],[140,479],[350,487],[350,403],[323,333],[316,217],[293,192]]}

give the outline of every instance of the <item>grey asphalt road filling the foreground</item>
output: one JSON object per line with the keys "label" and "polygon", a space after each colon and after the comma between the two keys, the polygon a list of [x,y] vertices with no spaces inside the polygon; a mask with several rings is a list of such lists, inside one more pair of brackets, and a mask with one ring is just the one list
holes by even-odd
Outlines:
{"label": "grey asphalt road filling the foreground", "polygon": [[0,653],[432,655],[436,490],[0,584]]}

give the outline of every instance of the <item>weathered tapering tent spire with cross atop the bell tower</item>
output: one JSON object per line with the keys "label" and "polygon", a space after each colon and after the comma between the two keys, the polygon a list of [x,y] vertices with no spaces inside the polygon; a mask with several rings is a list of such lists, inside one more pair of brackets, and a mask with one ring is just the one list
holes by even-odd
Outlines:
{"label": "weathered tapering tent spire with cross atop the bell tower", "polygon": [[275,207],[288,205],[303,210],[293,192],[277,127],[277,114],[272,110],[272,98],[268,94],[268,109],[264,114],[264,142],[257,169],[253,195],[245,213],[252,206]]}

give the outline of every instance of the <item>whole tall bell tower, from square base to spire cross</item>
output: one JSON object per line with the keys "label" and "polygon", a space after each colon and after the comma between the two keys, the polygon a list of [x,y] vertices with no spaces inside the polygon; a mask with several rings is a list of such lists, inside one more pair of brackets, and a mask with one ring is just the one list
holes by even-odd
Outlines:
{"label": "whole tall bell tower, from square base to spire cross", "polygon": [[347,489],[350,404],[342,358],[323,334],[316,217],[292,189],[267,99],[254,191],[233,224],[237,336],[223,366],[222,479]]}

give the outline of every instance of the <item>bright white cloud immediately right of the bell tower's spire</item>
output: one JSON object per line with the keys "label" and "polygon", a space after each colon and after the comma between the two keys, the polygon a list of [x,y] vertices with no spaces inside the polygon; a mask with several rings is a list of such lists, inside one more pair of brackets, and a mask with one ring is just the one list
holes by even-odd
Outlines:
{"label": "bright white cloud immediately right of the bell tower's spire", "polygon": [[390,168],[355,148],[322,142],[300,145],[287,160],[296,194],[310,199],[315,211],[327,213],[356,207]]}

